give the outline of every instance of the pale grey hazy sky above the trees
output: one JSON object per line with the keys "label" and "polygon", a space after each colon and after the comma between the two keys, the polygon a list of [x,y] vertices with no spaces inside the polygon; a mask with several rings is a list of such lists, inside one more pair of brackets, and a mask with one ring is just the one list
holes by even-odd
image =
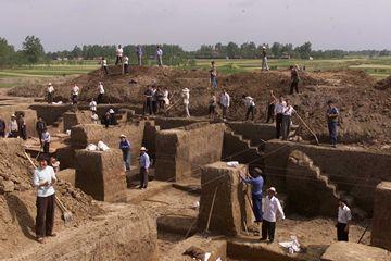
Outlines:
{"label": "pale grey hazy sky above the trees", "polygon": [[391,49],[391,0],[0,0],[0,37],[46,51],[83,45],[313,44]]}

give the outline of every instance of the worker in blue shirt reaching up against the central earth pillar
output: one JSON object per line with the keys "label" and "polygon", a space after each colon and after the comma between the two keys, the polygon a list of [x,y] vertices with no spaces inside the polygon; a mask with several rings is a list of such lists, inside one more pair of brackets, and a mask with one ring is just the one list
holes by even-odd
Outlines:
{"label": "worker in blue shirt reaching up against the central earth pillar", "polygon": [[247,184],[251,184],[252,191],[252,203],[253,203],[253,212],[255,216],[255,222],[261,223],[263,220],[262,212],[262,187],[264,185],[264,179],[261,176],[262,171],[257,170],[252,174],[252,176],[247,177],[242,173],[240,173],[240,177],[242,182]]}

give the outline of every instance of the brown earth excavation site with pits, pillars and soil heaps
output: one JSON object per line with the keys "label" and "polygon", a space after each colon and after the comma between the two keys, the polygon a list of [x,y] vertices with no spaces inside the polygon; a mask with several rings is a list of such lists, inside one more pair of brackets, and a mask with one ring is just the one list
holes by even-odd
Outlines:
{"label": "brown earth excavation site with pits, pillars and soil heaps", "polygon": [[[222,73],[209,88],[206,70],[121,66],[46,86],[2,92],[0,117],[23,114],[27,139],[0,138],[0,260],[140,261],[390,261],[391,260],[391,80],[376,82],[361,71],[303,72],[301,94],[288,95],[286,71]],[[91,121],[89,102],[104,83],[102,119]],[[77,104],[68,102],[74,83]],[[172,107],[144,113],[144,91],[167,88]],[[190,89],[190,117],[180,91]],[[231,97],[227,117],[217,108],[207,117],[211,91]],[[288,140],[265,123],[269,91],[290,98]],[[254,121],[244,121],[242,95],[256,101]],[[360,98],[360,99],[358,99]],[[337,148],[328,144],[327,101],[341,112]],[[176,103],[176,101],[178,103]],[[33,164],[42,154],[36,132],[41,117],[51,135],[48,156],[60,162],[54,185],[55,237],[35,235],[36,189]],[[119,136],[130,144],[126,170]],[[104,150],[87,149],[103,142]],[[148,187],[140,189],[140,149],[150,157]],[[252,186],[241,176],[264,179],[283,209],[274,241],[260,240]],[[349,206],[349,241],[337,240],[339,200]],[[60,202],[60,203],[59,203]],[[265,212],[266,210],[264,210]],[[65,214],[67,215],[65,215]],[[289,244],[299,243],[294,251]]]}

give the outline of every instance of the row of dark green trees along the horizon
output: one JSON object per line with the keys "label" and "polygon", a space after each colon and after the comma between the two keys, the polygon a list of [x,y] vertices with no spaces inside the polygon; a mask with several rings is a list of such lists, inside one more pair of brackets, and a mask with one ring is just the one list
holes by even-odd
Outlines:
{"label": "row of dark green trees along the horizon", "polygon": [[[389,50],[313,50],[310,41],[301,46],[292,44],[274,42],[273,45],[256,45],[253,41],[237,45],[228,42],[224,45],[202,45],[195,51],[185,51],[178,45],[162,45],[164,61],[167,65],[192,65],[194,59],[260,59],[262,47],[267,48],[270,59],[341,59],[350,55],[386,57],[391,55]],[[126,45],[124,53],[130,61],[136,60],[136,46]],[[75,46],[72,50],[45,52],[41,40],[35,36],[27,36],[22,45],[22,50],[15,50],[5,38],[0,37],[0,67],[18,66],[25,64],[51,63],[58,59],[68,60],[94,60],[105,57],[109,61],[115,57],[115,45],[84,45]],[[156,45],[142,45],[144,64],[152,60],[155,54]]]}

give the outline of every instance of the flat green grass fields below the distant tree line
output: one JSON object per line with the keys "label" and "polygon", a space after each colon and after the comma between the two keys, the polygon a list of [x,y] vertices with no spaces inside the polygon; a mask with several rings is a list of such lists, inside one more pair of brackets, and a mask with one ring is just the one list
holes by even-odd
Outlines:
{"label": "flat green grass fields below the distant tree line", "polygon": [[[195,61],[195,67],[209,69],[212,60],[203,59]],[[225,73],[238,73],[261,69],[261,61],[254,59],[217,59],[215,60],[218,71]],[[329,60],[277,60],[270,59],[272,70],[283,70],[290,65],[299,64],[307,71],[314,70],[364,70],[377,79],[391,75],[391,57],[386,58],[346,58]],[[68,64],[39,64],[22,66],[17,69],[0,70],[0,87],[9,88],[17,86],[23,78],[50,78],[55,76],[78,75],[98,69],[97,61],[83,61],[83,64],[68,62]]]}

